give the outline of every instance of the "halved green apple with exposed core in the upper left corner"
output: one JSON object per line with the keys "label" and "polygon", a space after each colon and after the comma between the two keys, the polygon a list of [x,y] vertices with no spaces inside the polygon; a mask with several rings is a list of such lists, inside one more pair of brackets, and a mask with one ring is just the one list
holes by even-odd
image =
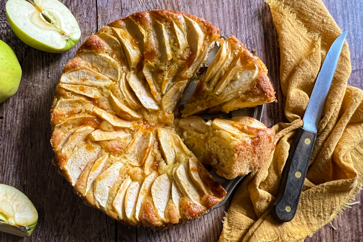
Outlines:
{"label": "halved green apple with exposed core in the upper left corner", "polygon": [[63,52],[81,37],[77,20],[58,0],[9,0],[6,15],[14,33],[39,50]]}

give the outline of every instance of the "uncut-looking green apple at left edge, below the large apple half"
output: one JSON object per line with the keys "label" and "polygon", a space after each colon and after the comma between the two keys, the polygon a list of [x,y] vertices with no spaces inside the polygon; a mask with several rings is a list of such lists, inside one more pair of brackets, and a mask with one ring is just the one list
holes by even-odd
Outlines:
{"label": "uncut-looking green apple at left edge, below the large apple half", "polygon": [[10,98],[19,88],[21,67],[15,53],[0,40],[0,103]]}

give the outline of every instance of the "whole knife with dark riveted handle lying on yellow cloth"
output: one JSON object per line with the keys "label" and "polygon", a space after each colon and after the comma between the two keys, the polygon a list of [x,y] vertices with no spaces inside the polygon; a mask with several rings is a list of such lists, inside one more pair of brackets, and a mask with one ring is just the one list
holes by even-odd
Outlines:
{"label": "whole knife with dark riveted handle lying on yellow cloth", "polygon": [[340,34],[326,54],[307,104],[303,126],[297,129],[290,145],[289,156],[282,171],[280,189],[271,207],[272,216],[277,221],[289,222],[295,216],[321,114],[346,35],[347,31]]}

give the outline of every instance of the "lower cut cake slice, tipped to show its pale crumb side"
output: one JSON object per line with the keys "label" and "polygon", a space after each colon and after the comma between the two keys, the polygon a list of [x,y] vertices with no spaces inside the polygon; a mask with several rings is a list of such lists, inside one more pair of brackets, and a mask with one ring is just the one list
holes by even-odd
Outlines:
{"label": "lower cut cake slice, tipped to show its pale crumb side", "polygon": [[197,159],[227,179],[258,168],[275,148],[275,131],[254,118],[205,122],[199,116],[188,116],[176,123],[180,137]]}

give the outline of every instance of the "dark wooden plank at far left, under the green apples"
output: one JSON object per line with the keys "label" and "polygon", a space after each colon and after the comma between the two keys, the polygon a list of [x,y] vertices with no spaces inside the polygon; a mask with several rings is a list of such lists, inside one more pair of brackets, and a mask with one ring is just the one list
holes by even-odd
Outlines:
{"label": "dark wooden plank at far left, under the green apples", "polygon": [[[79,22],[82,33],[96,30],[95,1],[62,1]],[[0,104],[0,182],[24,192],[38,210],[39,220],[30,238],[23,241],[115,241],[115,222],[90,208],[74,194],[72,186],[51,164],[49,110],[63,65],[76,48],[50,54],[25,45],[12,32],[0,1],[0,38],[19,58],[23,78],[17,94]],[[0,233],[0,241],[19,237]]]}

